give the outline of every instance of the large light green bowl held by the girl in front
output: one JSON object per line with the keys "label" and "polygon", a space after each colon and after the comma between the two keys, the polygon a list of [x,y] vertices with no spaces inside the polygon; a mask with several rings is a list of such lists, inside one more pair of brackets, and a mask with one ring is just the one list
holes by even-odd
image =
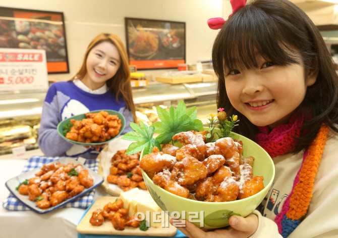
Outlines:
{"label": "large light green bowl held by the girl in front", "polygon": [[[208,129],[208,127],[204,127],[200,130]],[[228,226],[230,216],[240,215],[246,217],[258,207],[269,191],[274,178],[273,161],[266,151],[254,141],[236,133],[232,133],[231,136],[234,139],[243,141],[243,156],[245,158],[249,156],[255,157],[253,163],[253,175],[261,175],[264,177],[264,189],[259,193],[242,200],[221,203],[201,202],[182,198],[165,191],[160,186],[155,185],[142,170],[143,179],[149,193],[163,211],[166,211],[170,216],[175,213],[180,214],[179,219],[189,220],[197,227],[216,229]],[[142,157],[143,151],[140,158]],[[177,218],[178,215],[175,215],[175,217]]]}

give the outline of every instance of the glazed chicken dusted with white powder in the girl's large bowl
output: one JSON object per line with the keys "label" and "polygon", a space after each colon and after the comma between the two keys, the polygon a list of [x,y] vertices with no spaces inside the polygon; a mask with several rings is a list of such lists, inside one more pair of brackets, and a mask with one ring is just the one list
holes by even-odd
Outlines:
{"label": "glazed chicken dusted with white powder in the girl's large bowl", "polygon": [[206,143],[206,131],[173,136],[182,148],[164,144],[145,155],[140,168],[166,191],[205,202],[248,198],[264,188],[263,176],[253,176],[254,157],[243,158],[242,141],[224,137]]}

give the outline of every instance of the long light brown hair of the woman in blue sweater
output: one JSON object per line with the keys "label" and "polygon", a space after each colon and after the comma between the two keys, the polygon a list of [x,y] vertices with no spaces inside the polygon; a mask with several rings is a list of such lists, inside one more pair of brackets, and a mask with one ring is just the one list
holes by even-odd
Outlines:
{"label": "long light brown hair of the woman in blue sweater", "polygon": [[126,47],[123,44],[122,40],[116,34],[108,34],[101,33],[97,35],[88,45],[85,57],[83,59],[82,66],[79,72],[71,79],[82,79],[87,73],[86,61],[89,52],[98,45],[99,43],[108,41],[114,44],[120,54],[121,57],[121,65],[116,74],[106,81],[107,87],[109,91],[114,92],[116,94],[116,101],[119,102],[119,99],[123,99],[126,103],[126,107],[133,113],[134,122],[136,122],[136,114],[135,114],[135,105],[133,101],[133,93],[132,87],[130,83],[130,69],[129,69],[129,61],[128,54],[126,51]]}

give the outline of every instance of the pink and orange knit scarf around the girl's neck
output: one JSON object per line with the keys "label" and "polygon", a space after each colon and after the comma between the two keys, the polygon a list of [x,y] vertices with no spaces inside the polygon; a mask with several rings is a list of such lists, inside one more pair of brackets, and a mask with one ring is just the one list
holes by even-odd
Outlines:
{"label": "pink and orange knit scarf around the girl's neck", "polygon": [[[271,158],[286,154],[294,149],[296,139],[302,131],[302,124],[303,117],[294,114],[288,124],[277,126],[272,131],[269,131],[267,126],[258,127],[261,131],[261,133],[256,135],[258,145],[263,147]],[[306,178],[309,181],[314,180],[318,171],[327,132],[328,127],[322,126],[310,147],[305,150],[303,162],[294,179],[292,191],[281,207],[281,212],[274,219],[279,233],[284,238],[294,231],[301,223],[301,218],[307,212],[310,203],[309,198],[312,197],[313,182],[309,185],[309,182],[304,183],[304,179]],[[303,168],[304,164],[306,165]],[[309,179],[309,176],[311,176],[312,180]]]}

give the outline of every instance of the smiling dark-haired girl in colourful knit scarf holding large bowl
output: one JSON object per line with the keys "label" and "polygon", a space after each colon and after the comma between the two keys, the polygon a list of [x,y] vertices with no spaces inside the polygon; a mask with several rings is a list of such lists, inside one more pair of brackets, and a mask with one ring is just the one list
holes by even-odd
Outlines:
{"label": "smiling dark-haired girl in colourful knit scarf holding large bowl", "polygon": [[316,26],[287,0],[244,3],[221,27],[212,62],[218,108],[238,115],[233,131],[269,153],[275,178],[261,213],[234,215],[210,232],[188,221],[179,229],[189,237],[338,237],[338,77]]}

